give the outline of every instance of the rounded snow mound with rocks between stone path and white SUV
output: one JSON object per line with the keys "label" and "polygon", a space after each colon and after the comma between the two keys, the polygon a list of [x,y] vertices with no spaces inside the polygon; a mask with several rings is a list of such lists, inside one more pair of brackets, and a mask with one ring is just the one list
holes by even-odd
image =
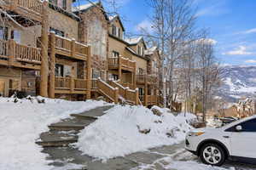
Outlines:
{"label": "rounded snow mound with rocks between stone path and white SUV", "polygon": [[188,117],[173,116],[167,109],[160,111],[162,115],[156,116],[143,106],[117,105],[85,127],[79,133],[79,142],[76,145],[84,154],[105,161],[116,156],[181,142],[185,133],[192,128],[187,123]]}

